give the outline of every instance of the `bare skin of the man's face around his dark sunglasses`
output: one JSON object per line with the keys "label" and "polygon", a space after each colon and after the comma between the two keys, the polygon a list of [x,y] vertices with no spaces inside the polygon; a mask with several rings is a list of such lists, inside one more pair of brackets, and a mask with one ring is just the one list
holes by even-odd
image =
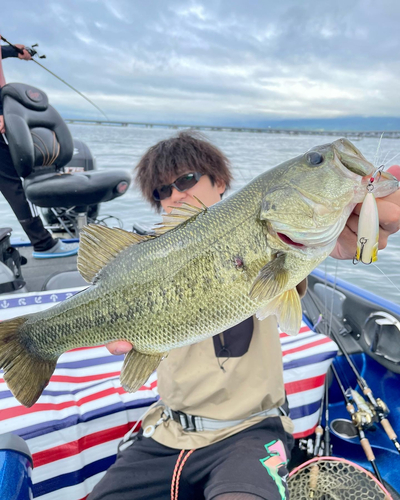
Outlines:
{"label": "bare skin of the man's face around his dark sunglasses", "polygon": [[[176,179],[171,179],[171,182],[175,180]],[[207,207],[210,207],[221,200],[221,194],[224,193],[225,188],[225,182],[218,181],[212,185],[208,175],[202,175],[197,184],[183,193],[180,193],[173,187],[171,196],[165,200],[161,200],[160,203],[166,213],[170,213],[174,207],[180,207],[182,203],[201,207],[196,198]],[[196,196],[196,198],[194,198],[194,196]]]}

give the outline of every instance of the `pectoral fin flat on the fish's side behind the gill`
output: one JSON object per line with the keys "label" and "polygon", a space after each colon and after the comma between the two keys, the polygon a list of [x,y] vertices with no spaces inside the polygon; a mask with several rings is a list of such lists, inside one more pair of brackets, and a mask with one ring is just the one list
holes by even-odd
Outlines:
{"label": "pectoral fin flat on the fish's side behind the gill", "polygon": [[262,301],[282,293],[289,279],[285,261],[286,254],[281,253],[261,269],[250,290],[252,300]]}

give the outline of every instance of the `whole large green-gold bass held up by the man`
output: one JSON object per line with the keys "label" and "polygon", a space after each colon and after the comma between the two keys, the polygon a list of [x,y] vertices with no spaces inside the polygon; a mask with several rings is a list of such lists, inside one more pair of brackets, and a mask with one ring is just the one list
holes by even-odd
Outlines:
{"label": "whole large green-gold bass held up by the man", "polygon": [[[45,311],[0,323],[0,368],[16,399],[40,397],[59,356],[125,340],[122,386],[139,389],[172,349],[256,314],[298,333],[296,286],[333,250],[373,165],[347,139],[317,146],[259,175],[219,203],[188,204],[140,236],[90,224],[80,233],[85,290]],[[398,188],[382,173],[375,196]]]}

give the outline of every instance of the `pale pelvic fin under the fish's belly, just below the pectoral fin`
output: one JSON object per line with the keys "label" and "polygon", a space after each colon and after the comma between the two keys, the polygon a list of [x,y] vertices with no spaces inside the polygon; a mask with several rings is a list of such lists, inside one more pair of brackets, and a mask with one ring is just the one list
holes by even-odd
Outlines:
{"label": "pale pelvic fin under the fish's belly, just below the pectoral fin", "polygon": [[261,307],[256,316],[259,320],[275,314],[279,328],[289,335],[297,335],[301,328],[302,309],[299,293],[296,288],[283,292]]}

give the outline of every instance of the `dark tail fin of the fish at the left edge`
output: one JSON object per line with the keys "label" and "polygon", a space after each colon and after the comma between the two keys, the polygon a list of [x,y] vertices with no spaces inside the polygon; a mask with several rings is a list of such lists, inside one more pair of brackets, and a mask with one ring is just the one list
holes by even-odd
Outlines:
{"label": "dark tail fin of the fish at the left edge", "polygon": [[21,316],[0,323],[0,368],[15,398],[29,408],[48,384],[57,359],[45,360],[27,350],[21,335],[26,321],[27,317]]}

